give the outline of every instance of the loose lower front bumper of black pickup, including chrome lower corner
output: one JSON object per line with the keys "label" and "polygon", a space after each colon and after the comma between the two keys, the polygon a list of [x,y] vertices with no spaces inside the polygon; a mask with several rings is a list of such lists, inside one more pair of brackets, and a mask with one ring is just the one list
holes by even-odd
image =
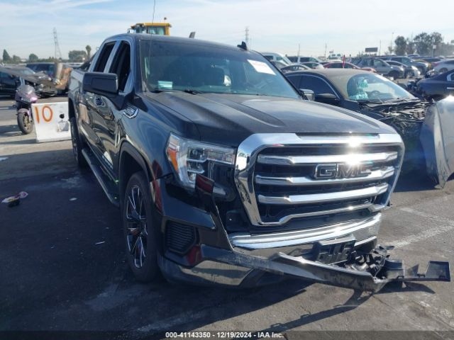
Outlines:
{"label": "loose lower front bumper of black pickup, including chrome lower corner", "polygon": [[387,250],[379,246],[370,254],[360,256],[362,262],[355,261],[341,266],[311,261],[302,256],[291,256],[282,252],[266,258],[201,245],[199,256],[202,261],[198,265],[184,268],[164,260],[163,269],[176,280],[244,287],[263,282],[260,280],[265,273],[273,274],[274,282],[277,279],[301,278],[314,283],[372,292],[377,292],[392,282],[450,282],[448,262],[429,261],[426,271],[419,273],[418,266],[405,270],[402,261],[389,259]]}

